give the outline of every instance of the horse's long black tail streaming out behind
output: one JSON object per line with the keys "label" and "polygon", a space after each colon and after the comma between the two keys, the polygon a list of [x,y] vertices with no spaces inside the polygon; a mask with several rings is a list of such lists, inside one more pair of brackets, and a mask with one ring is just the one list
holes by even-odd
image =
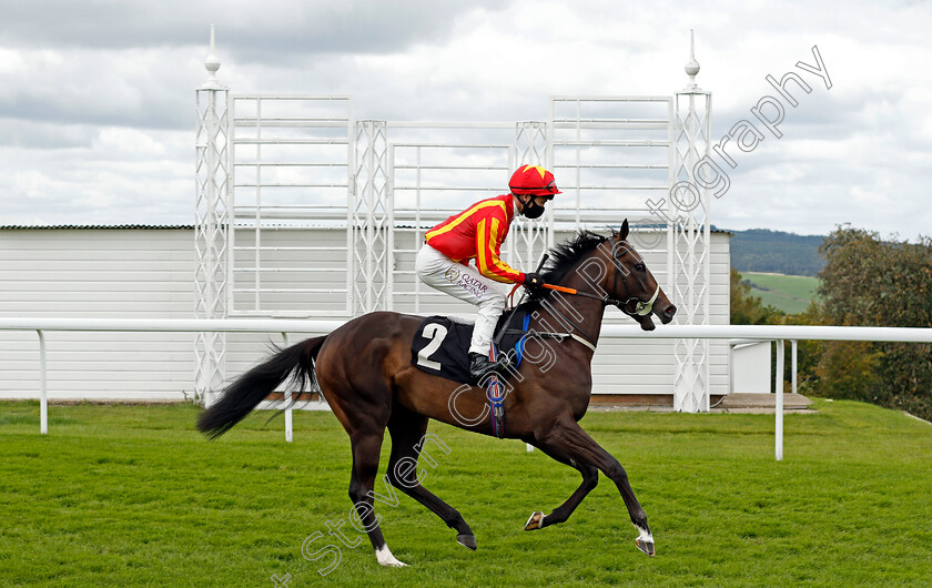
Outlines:
{"label": "horse's long black tail streaming out behind", "polygon": [[201,413],[197,429],[211,439],[220,437],[245,418],[290,375],[298,393],[308,384],[315,386],[314,361],[326,338],[308,338],[286,347],[237,377],[226,387],[220,401]]}

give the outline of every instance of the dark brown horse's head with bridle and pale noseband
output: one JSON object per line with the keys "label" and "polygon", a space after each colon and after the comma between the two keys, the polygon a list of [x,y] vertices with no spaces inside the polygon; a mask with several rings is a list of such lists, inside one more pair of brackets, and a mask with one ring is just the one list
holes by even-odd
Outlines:
{"label": "dark brown horse's head with bridle and pale noseband", "polygon": [[615,305],[640,324],[645,331],[654,331],[655,314],[665,325],[673,320],[677,307],[670,302],[657,278],[648,270],[628,239],[628,220],[621,230],[614,233],[602,247],[611,258],[611,267],[605,276],[604,287]]}

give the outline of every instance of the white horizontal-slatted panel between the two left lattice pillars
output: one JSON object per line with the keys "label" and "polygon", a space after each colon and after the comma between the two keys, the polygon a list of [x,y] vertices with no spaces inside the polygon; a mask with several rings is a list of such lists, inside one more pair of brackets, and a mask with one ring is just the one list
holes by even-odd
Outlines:
{"label": "white horizontal-slatted panel between the two left lattice pillars", "polygon": [[[317,316],[351,314],[350,240],[292,243],[280,235],[346,226],[352,99],[233,95],[230,128],[229,315],[307,316],[305,301],[314,301]],[[334,286],[334,272],[346,275],[343,285]]]}

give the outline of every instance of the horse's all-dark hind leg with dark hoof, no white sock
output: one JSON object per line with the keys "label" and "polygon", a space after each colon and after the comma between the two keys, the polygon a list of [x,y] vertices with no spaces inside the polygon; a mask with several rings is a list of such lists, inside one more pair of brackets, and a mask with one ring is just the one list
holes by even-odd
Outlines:
{"label": "horse's all-dark hind leg with dark hoof, no white sock", "polygon": [[[388,420],[388,433],[392,435],[392,457],[386,473],[388,481],[430,509],[446,523],[447,527],[456,530],[456,540],[459,545],[476,549],[473,529],[459,511],[424,488],[418,479],[417,458],[426,443],[427,420],[426,416],[413,413],[401,405],[394,406],[392,418]],[[429,457],[427,459],[429,460]]]}

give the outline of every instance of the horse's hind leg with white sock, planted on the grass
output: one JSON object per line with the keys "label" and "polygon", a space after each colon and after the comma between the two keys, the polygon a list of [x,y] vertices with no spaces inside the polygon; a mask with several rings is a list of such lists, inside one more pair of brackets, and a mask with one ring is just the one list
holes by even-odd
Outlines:
{"label": "horse's hind leg with white sock, planted on the grass", "polygon": [[[382,536],[382,529],[378,527],[378,519],[375,516],[375,507],[373,500],[375,498],[375,476],[378,474],[378,453],[382,449],[382,438],[384,429],[377,433],[366,432],[364,434],[356,432],[350,435],[353,445],[353,474],[350,477],[350,499],[356,508],[359,516],[362,527],[368,534],[369,541],[375,548],[375,557],[383,566],[402,567],[402,564],[388,546],[385,545],[385,538]],[[394,493],[389,494],[389,498],[394,497]],[[358,541],[358,539],[356,539]],[[355,545],[353,546],[355,547]]]}

